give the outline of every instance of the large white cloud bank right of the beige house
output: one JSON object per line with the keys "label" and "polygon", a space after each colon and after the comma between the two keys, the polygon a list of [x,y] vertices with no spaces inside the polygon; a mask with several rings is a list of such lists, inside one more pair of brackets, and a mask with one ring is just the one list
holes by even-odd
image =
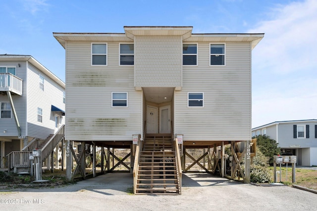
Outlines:
{"label": "large white cloud bank right of the beige house", "polygon": [[317,119],[316,14],[316,0],[277,5],[249,31],[265,33],[253,50],[252,127]]}

